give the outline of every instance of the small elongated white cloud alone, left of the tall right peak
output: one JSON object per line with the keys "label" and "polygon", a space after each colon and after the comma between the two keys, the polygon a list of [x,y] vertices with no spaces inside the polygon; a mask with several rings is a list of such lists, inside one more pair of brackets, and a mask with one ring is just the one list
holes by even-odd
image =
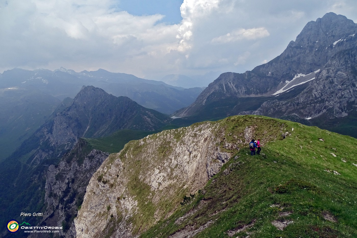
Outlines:
{"label": "small elongated white cloud alone, left of the tall right peak", "polygon": [[237,41],[241,39],[255,40],[257,38],[263,38],[269,36],[267,29],[261,28],[251,28],[251,29],[238,29],[227,33],[226,35],[221,35],[212,39],[212,43],[225,44],[232,41]]}

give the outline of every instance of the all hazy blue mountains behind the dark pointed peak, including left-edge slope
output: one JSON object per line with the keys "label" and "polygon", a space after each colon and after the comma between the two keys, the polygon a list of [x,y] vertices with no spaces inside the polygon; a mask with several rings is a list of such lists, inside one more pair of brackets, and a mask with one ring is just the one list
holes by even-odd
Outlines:
{"label": "all hazy blue mountains behind the dark pointed peak, including left-edge slope", "polygon": [[0,161],[34,133],[65,98],[83,85],[94,85],[115,96],[127,96],[165,114],[190,105],[203,88],[182,88],[162,81],[99,69],[82,71],[6,70],[0,74]]}

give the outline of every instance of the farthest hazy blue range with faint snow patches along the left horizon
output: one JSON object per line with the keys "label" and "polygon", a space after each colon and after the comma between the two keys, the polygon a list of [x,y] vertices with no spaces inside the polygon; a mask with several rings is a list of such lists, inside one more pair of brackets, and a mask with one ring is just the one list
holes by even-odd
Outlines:
{"label": "farthest hazy blue range with faint snow patches along the left horizon", "polygon": [[104,69],[76,73],[64,68],[54,71],[15,68],[0,75],[0,88],[35,88],[60,100],[73,98],[82,85],[94,85],[114,96],[127,96],[146,108],[166,114],[190,105],[203,90],[185,89],[162,81],[141,79],[131,74],[111,73]]}

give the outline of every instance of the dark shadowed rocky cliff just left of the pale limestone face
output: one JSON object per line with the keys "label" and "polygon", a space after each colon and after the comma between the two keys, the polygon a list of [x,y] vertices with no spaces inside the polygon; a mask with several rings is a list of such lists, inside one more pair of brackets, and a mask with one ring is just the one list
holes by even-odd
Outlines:
{"label": "dark shadowed rocky cliff just left of the pale limestone face", "polygon": [[[63,226],[60,235],[75,237],[73,218],[82,204],[90,178],[108,157],[108,153],[91,149],[80,139],[75,148],[65,154],[58,165],[50,165],[46,175],[45,203],[47,208],[40,224]],[[34,233],[31,237],[47,237]]]}

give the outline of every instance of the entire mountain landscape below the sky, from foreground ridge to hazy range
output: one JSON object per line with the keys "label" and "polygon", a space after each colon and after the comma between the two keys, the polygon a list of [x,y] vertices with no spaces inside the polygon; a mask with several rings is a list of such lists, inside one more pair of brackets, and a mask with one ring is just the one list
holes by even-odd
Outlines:
{"label": "entire mountain landscape below the sky, from foreground ridge to hazy range", "polygon": [[328,13],[277,58],[204,90],[101,69],[5,71],[0,96],[14,103],[0,119],[21,130],[0,162],[1,223],[67,238],[356,236],[356,139],[297,123],[357,137],[356,32]]}

